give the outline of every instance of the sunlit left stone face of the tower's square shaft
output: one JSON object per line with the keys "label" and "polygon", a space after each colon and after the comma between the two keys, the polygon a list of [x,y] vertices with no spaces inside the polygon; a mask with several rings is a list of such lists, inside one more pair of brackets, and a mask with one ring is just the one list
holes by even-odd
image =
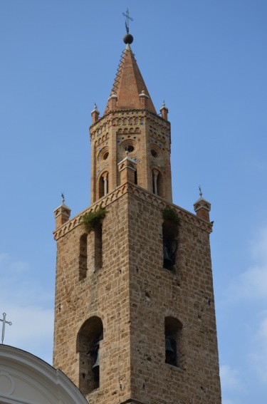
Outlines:
{"label": "sunlit left stone face of the tower's square shaft", "polygon": [[[127,195],[109,205],[103,220],[103,267],[94,272],[93,232],[88,235],[88,271],[79,281],[82,224],[58,239],[53,366],[79,383],[78,331],[85,321],[103,321],[100,388],[90,403],[118,403],[130,397],[129,273]],[[90,370],[89,370],[90,371]],[[83,391],[83,389],[82,389]]]}

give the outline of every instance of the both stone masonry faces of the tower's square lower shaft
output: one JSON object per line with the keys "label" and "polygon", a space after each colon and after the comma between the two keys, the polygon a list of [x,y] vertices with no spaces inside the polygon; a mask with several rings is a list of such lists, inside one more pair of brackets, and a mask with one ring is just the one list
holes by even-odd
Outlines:
{"label": "both stone masonry faces of the tower's square lower shaft", "polygon": [[[125,184],[102,204],[103,266],[79,280],[82,212],[56,229],[54,363],[80,385],[80,328],[103,321],[100,388],[93,404],[221,404],[209,232],[211,224],[142,188]],[[162,209],[179,217],[175,271],[163,268]],[[182,323],[179,368],[165,363],[164,317]]]}

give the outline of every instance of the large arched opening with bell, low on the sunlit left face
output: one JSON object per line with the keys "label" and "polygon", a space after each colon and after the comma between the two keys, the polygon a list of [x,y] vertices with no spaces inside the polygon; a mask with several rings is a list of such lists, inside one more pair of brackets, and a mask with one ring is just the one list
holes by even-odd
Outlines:
{"label": "large arched opening with bell, low on the sunlit left face", "polygon": [[85,395],[100,387],[101,341],[103,323],[97,316],[88,318],[77,337],[79,353],[79,388]]}

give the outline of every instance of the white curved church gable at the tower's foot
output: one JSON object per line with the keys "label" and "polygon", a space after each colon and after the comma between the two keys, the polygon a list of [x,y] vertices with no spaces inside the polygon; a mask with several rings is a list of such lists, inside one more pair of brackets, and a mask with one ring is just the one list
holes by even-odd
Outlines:
{"label": "white curved church gable at the tower's foot", "polygon": [[12,346],[0,345],[0,403],[88,404],[61,371]]}

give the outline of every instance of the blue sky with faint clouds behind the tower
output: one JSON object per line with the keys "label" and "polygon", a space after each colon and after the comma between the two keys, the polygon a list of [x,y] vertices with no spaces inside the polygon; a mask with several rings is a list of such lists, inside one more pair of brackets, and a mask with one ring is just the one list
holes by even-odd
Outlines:
{"label": "blue sky with faint clouds behind the tower", "polygon": [[0,314],[51,363],[53,209],[90,204],[90,111],[125,34],[172,123],[174,203],[211,202],[223,404],[267,400],[267,1],[0,1]]}

